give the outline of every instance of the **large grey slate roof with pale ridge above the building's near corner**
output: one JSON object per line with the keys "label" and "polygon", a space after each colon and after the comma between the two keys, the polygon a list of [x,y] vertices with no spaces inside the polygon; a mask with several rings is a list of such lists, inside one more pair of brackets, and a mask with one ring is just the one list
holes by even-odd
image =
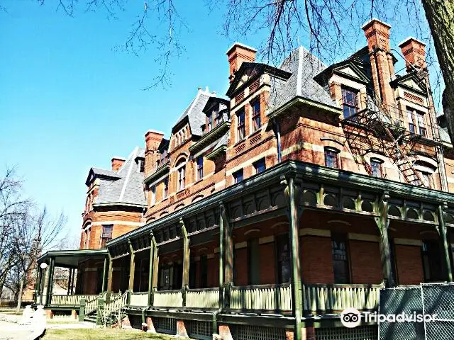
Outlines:
{"label": "large grey slate roof with pale ridge above the building's near corner", "polygon": [[276,91],[271,94],[274,108],[279,108],[297,96],[338,108],[328,89],[323,89],[323,86],[314,80],[326,66],[304,47],[293,50],[279,69],[292,73],[292,76],[287,81],[275,79]]}

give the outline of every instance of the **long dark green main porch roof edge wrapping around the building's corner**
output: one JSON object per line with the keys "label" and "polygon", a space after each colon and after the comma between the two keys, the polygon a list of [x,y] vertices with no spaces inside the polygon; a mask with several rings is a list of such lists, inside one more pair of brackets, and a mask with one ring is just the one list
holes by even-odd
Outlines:
{"label": "long dark green main porch roof edge wrapping around the building's corner", "polygon": [[293,175],[298,176],[302,181],[312,181],[319,183],[331,183],[336,186],[345,186],[345,188],[356,188],[360,190],[370,191],[374,193],[389,192],[391,196],[398,196],[405,199],[414,199],[426,203],[442,205],[448,203],[450,208],[454,207],[454,194],[445,193],[435,189],[425,187],[412,186],[407,183],[400,183],[389,179],[380,179],[377,177],[357,174],[351,171],[341,169],[332,169],[326,166],[317,164],[300,162],[295,160],[287,160],[272,168],[263,171],[260,174],[251,176],[240,183],[214,193],[211,196],[202,198],[184,208],[172,212],[165,217],[149,222],[148,224],[135,229],[121,237],[111,240],[107,243],[108,247],[127,242],[128,239],[138,237],[139,235],[149,234],[158,227],[168,225],[172,222],[179,221],[180,218],[192,215],[196,212],[213,208],[221,202],[229,202],[244,196],[250,192],[265,188],[272,183],[279,183],[282,176]]}

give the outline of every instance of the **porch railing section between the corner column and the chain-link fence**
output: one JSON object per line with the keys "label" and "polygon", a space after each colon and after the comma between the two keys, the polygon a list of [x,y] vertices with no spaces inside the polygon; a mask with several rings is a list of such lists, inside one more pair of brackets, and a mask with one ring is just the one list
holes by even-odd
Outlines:
{"label": "porch railing section between the corner column and the chain-link fence", "polygon": [[309,314],[342,311],[347,307],[375,310],[382,285],[303,285],[304,310]]}

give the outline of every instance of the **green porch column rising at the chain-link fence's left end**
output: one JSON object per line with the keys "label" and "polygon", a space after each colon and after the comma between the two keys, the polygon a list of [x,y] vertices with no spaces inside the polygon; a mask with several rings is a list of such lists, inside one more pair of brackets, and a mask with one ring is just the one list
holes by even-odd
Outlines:
{"label": "green porch column rising at the chain-link fence's left end", "polygon": [[392,277],[391,251],[389,250],[388,238],[388,200],[389,193],[383,193],[378,203],[377,212],[380,216],[375,217],[378,230],[380,232],[380,257],[382,259],[383,280],[386,287],[394,287],[394,278]]}

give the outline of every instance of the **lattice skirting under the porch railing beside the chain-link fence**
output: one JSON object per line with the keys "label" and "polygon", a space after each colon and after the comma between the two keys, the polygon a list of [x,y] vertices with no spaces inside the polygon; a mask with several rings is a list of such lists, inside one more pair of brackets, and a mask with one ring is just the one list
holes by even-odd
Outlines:
{"label": "lattice skirting under the porch railing beside the chain-link fence", "polygon": [[316,328],[315,340],[377,340],[377,326]]}

